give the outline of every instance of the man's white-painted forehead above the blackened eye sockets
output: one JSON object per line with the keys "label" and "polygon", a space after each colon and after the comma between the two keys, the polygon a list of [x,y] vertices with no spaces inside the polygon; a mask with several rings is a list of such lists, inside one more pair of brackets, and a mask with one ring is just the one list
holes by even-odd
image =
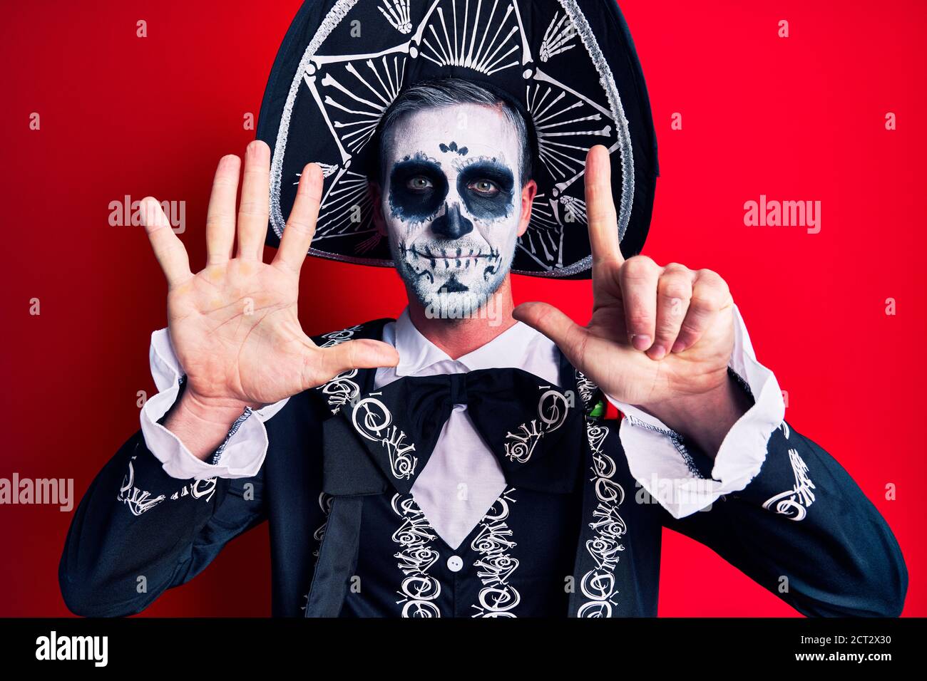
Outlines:
{"label": "man's white-painted forehead above the blackened eye sockets", "polygon": [[478,104],[408,113],[390,127],[385,143],[387,161],[425,152],[435,158],[489,156],[512,167],[520,149],[514,124],[502,109]]}

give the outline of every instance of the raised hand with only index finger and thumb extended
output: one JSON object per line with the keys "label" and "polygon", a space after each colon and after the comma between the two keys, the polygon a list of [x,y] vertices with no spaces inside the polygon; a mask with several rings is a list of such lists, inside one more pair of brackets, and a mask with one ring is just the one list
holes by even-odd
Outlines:
{"label": "raised hand with only index finger and thumb extended", "polygon": [[[713,271],[692,271],[677,263],[661,267],[646,256],[622,257],[611,162],[602,145],[593,146],[586,158],[586,210],[592,249],[590,322],[579,326],[559,309],[538,302],[518,306],[515,318],[550,337],[609,396],[661,418],[690,410],[699,397],[711,396],[703,401],[717,405],[717,396],[722,402],[735,396],[727,374],[734,344],[728,285]],[[743,403],[722,406],[723,417],[743,412]]]}

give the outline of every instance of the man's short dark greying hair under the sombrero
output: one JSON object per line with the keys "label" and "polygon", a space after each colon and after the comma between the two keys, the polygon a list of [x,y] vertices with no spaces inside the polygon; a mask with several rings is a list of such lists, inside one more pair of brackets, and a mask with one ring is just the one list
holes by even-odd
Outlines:
{"label": "man's short dark greying hair under the sombrero", "polygon": [[377,174],[381,184],[385,180],[386,173],[383,167],[383,140],[389,129],[406,114],[424,108],[454,107],[461,104],[497,107],[512,123],[521,147],[519,179],[524,186],[533,175],[533,159],[537,148],[535,131],[533,126],[527,122],[524,109],[512,96],[489,83],[476,83],[451,77],[416,82],[396,97],[383,114],[376,133],[378,151],[376,168],[379,170]]}

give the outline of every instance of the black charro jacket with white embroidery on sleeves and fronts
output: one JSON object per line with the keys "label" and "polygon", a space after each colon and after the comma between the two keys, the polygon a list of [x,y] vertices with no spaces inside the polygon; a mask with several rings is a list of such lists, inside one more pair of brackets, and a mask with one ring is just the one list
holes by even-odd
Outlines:
{"label": "black charro jacket with white embroidery on sleeves and fronts", "polygon": [[[366,322],[351,327],[349,334],[313,340],[322,345],[348,336],[379,338],[389,321]],[[361,394],[370,392],[374,373],[352,374]],[[580,470],[565,472],[576,473],[577,484],[566,496],[549,498],[550,503],[527,491],[520,508],[530,511],[518,516],[525,529],[514,526],[516,537],[519,532],[530,536],[532,528],[537,530],[534,525],[548,523],[552,530],[542,536],[557,538],[543,550],[572,564],[572,579],[568,588],[561,587],[562,599],[539,600],[527,598],[530,587],[516,579],[530,572],[505,572],[511,578],[493,573],[497,583],[511,583],[490,586],[520,589],[520,602],[511,599],[514,605],[506,614],[655,616],[663,527],[714,549],[806,615],[901,612],[908,572],[892,531],[840,464],[787,423],[770,436],[767,458],[743,490],[718,499],[709,510],[676,519],[629,473],[618,438],[620,422],[591,415],[589,406],[598,394],[563,356],[561,379],[561,387],[576,390],[587,407]],[[401,574],[410,574],[408,564],[397,565],[400,554],[389,552],[388,541],[381,550],[370,546],[369,539],[375,532],[386,537],[393,533],[396,540],[395,526],[379,528],[375,523],[383,522],[378,510],[390,508],[390,501],[396,509],[402,499],[388,475],[333,415],[332,396],[344,395],[327,387],[291,397],[265,422],[270,445],[260,472],[251,478],[178,480],[164,472],[140,431],[130,437],[96,475],[74,514],[59,565],[61,592],[70,611],[104,617],[141,612],[166,589],[199,574],[228,541],[267,522],[274,616],[425,612],[404,605],[395,590],[375,594],[371,586],[368,591],[376,602],[396,603],[392,612],[386,605],[378,609],[371,605],[374,601],[365,602],[351,588],[360,566],[371,585],[383,581],[371,573],[395,574],[396,584]],[[704,455],[695,448],[689,453],[701,463],[700,470],[710,472]],[[813,481],[810,494],[799,485],[799,477]],[[575,512],[559,511],[566,508]],[[562,526],[554,527],[557,523]],[[443,549],[435,546],[429,549],[435,559],[446,558],[438,556]],[[553,564],[549,556],[538,555],[538,545],[522,541],[511,546],[507,561]],[[443,562],[428,560],[438,568]],[[486,561],[481,564],[486,585]],[[146,581],[142,593],[140,575]],[[433,576],[451,579],[446,570]],[[559,577],[552,581],[564,583]],[[541,601],[544,609],[539,609]],[[451,606],[451,614],[471,616],[474,607]]]}

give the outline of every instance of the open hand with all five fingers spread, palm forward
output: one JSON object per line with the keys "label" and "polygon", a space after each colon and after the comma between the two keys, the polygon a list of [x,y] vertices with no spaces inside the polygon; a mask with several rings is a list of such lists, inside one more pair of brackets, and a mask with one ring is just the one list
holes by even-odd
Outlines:
{"label": "open hand with all five fingers spread, palm forward", "polygon": [[[399,361],[396,349],[381,341],[359,339],[318,347],[299,324],[299,269],[315,233],[322,198],[323,176],[317,164],[303,169],[280,247],[273,262],[265,264],[261,257],[270,202],[270,148],[260,141],[248,145],[233,256],[240,165],[236,156],[219,161],[206,220],[208,261],[197,274],[190,271],[184,245],[158,201],[150,196],[142,201],[146,233],[168,280],[171,344],[187,376],[181,410],[195,414],[194,420],[225,423],[226,428],[231,425],[229,416],[234,415],[234,421],[246,406],[273,404],[350,369],[395,366]],[[173,411],[168,427],[176,434],[170,422]],[[219,432],[218,427],[214,430]]]}

